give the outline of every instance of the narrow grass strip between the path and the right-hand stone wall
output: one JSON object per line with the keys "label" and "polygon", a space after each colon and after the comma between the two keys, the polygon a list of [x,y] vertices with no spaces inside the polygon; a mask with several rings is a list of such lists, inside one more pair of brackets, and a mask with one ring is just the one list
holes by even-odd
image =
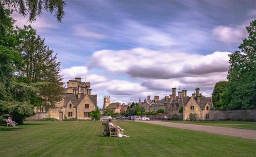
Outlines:
{"label": "narrow grass strip between the path and the right-hand stone wall", "polygon": [[256,122],[253,122],[253,121],[169,121],[169,122],[256,130]]}

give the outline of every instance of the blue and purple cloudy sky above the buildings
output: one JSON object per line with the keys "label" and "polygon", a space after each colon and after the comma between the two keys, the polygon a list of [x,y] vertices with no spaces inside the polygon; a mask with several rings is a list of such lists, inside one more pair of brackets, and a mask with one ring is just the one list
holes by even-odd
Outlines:
{"label": "blue and purple cloudy sky above the buildings", "polygon": [[[65,0],[62,23],[44,12],[31,25],[57,53],[63,81],[81,77],[103,106],[171,88],[211,96],[226,80],[228,54],[247,37],[256,0]],[[28,17],[13,13],[16,25]]]}

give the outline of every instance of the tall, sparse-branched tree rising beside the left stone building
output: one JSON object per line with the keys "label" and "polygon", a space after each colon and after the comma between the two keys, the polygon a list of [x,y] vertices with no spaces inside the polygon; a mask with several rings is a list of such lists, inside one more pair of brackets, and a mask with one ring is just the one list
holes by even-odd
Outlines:
{"label": "tall, sparse-branched tree rising beside the left stone building", "polygon": [[22,38],[17,50],[20,51],[24,66],[18,70],[21,82],[48,82],[48,86],[41,89],[40,95],[48,102],[54,104],[63,95],[61,87],[60,62],[57,54],[53,54],[44,39],[36,36],[36,31],[31,26],[19,29]]}

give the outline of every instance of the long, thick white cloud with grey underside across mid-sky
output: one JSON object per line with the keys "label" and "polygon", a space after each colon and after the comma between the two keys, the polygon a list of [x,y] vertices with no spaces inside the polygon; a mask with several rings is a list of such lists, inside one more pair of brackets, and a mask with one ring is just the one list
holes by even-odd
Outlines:
{"label": "long, thick white cloud with grey underside across mid-sky", "polygon": [[110,72],[123,72],[132,77],[170,79],[227,72],[230,52],[208,55],[161,52],[137,48],[102,50],[92,55],[89,66],[104,67]]}

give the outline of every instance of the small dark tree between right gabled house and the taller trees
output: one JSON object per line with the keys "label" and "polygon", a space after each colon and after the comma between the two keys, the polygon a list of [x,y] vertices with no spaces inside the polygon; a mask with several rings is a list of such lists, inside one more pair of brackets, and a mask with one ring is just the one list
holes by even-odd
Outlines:
{"label": "small dark tree between right gabled house and the taller trees", "polygon": [[220,95],[225,91],[227,88],[227,81],[220,81],[217,82],[214,86],[214,90],[212,93],[212,103],[214,104],[215,109],[220,109],[221,108],[221,103],[220,103]]}

